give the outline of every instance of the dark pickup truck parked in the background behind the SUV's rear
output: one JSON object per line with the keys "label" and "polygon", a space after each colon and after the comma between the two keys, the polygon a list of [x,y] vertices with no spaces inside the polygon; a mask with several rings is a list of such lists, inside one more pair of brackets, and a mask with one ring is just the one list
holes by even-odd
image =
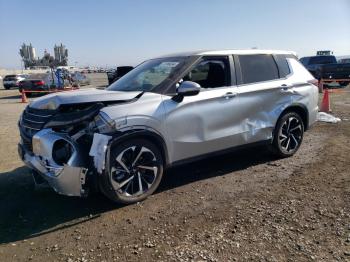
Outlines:
{"label": "dark pickup truck parked in the background behind the SUV's rear", "polygon": [[[316,79],[349,79],[350,63],[338,63],[333,55],[317,55],[300,58],[300,62]],[[339,82],[340,86],[347,86],[348,81]]]}

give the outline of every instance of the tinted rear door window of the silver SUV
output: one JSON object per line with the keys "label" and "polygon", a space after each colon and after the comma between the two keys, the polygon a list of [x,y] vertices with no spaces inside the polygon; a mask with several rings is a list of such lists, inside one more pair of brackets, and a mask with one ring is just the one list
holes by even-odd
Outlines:
{"label": "tinted rear door window of the silver SUV", "polygon": [[278,79],[278,69],[272,55],[239,55],[243,84]]}

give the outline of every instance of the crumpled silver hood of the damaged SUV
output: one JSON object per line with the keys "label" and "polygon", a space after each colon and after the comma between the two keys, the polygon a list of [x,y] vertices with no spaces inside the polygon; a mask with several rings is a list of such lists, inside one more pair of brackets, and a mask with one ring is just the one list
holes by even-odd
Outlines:
{"label": "crumpled silver hood of the damaged SUV", "polygon": [[29,104],[36,109],[57,109],[60,105],[80,104],[89,102],[128,101],[135,98],[140,91],[121,92],[96,88],[79,89],[76,91],[57,92],[35,99]]}

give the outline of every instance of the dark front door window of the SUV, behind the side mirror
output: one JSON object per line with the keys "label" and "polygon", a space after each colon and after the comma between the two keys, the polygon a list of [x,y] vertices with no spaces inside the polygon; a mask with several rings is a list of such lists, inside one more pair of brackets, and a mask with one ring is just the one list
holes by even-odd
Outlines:
{"label": "dark front door window of the SUV, behind the side mirror", "polygon": [[229,85],[229,66],[226,57],[222,59],[203,58],[193,67],[183,80],[193,81],[203,88],[215,88]]}

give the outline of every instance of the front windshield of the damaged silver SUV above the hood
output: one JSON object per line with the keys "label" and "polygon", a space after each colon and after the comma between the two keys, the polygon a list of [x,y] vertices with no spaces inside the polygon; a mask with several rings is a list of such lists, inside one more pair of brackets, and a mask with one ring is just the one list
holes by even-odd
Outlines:
{"label": "front windshield of the damaged silver SUV above the hood", "polygon": [[167,57],[145,61],[110,85],[107,90],[157,92],[159,87],[167,83],[181,70],[184,63],[184,57]]}

